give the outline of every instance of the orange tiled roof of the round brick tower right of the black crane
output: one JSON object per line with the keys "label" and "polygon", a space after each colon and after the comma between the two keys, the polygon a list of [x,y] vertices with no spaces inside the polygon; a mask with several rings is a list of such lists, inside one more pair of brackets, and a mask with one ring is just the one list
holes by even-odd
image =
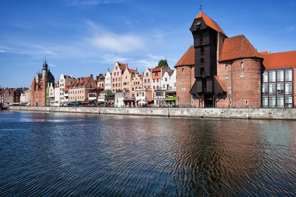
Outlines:
{"label": "orange tiled roof of the round brick tower right of the black crane", "polygon": [[240,58],[262,58],[244,35],[224,39],[219,62]]}

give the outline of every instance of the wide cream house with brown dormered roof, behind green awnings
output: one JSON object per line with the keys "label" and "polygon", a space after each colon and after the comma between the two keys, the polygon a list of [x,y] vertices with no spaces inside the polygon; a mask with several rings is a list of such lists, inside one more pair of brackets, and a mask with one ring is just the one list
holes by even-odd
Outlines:
{"label": "wide cream house with brown dormered roof, behind green awnings", "polygon": [[92,74],[89,77],[78,77],[69,86],[68,99],[69,101],[83,101],[88,98],[89,90],[93,88],[97,88],[97,84]]}

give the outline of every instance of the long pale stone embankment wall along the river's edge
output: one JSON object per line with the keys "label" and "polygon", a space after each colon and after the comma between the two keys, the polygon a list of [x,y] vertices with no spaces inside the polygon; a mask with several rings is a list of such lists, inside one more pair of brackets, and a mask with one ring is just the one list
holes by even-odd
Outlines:
{"label": "long pale stone embankment wall along the river's edge", "polygon": [[124,108],[9,106],[9,110],[197,118],[296,120],[296,108]]}

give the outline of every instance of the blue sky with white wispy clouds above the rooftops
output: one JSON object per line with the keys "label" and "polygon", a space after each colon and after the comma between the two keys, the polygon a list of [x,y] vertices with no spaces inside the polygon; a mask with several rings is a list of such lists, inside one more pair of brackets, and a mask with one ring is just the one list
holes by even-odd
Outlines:
{"label": "blue sky with white wispy clouds above the rooftops", "polygon": [[44,56],[56,81],[106,73],[116,61],[140,72],[160,59],[173,67],[193,43],[200,3],[228,37],[296,50],[296,0],[2,0],[0,86],[30,87]]}

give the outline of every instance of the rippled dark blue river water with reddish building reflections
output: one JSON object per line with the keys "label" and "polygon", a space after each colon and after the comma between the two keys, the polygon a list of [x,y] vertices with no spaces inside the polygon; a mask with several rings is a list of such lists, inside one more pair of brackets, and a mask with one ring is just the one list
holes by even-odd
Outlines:
{"label": "rippled dark blue river water with reddish building reflections", "polygon": [[296,122],[0,111],[0,196],[296,196]]}

